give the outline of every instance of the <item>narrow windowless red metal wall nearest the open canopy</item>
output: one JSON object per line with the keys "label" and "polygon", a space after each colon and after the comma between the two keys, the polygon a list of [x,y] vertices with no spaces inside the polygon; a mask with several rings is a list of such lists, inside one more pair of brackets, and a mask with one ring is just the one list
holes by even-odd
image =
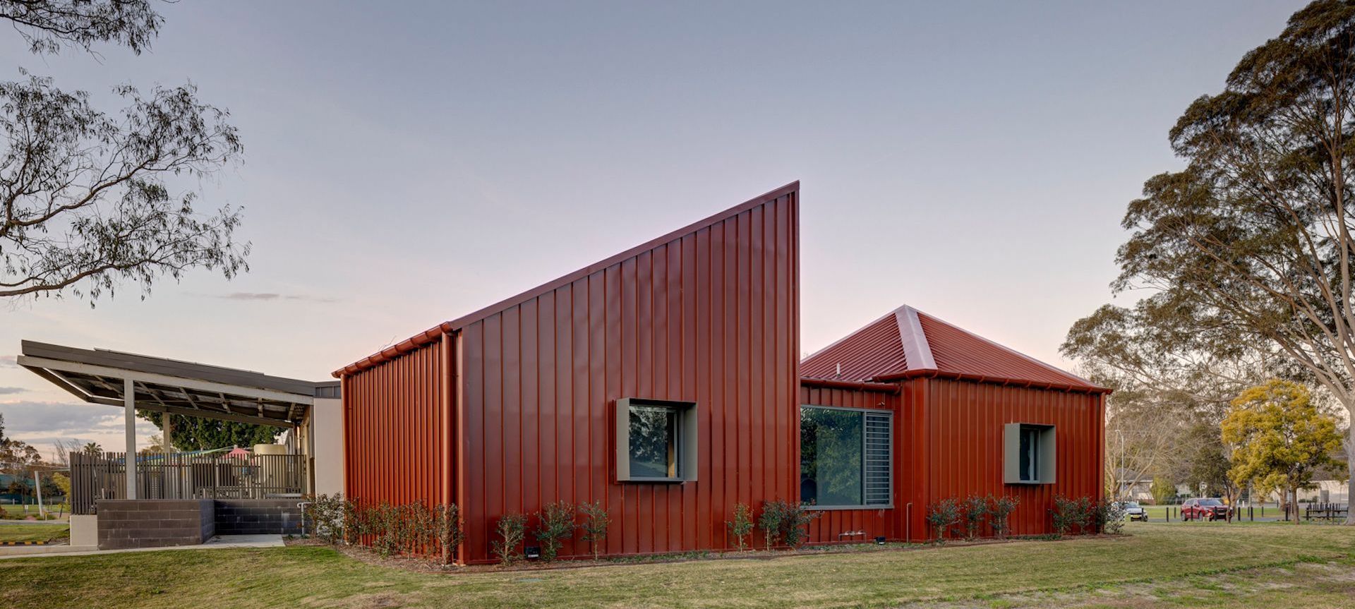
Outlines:
{"label": "narrow windowless red metal wall nearest the open canopy", "polygon": [[[447,338],[443,336],[443,340]],[[442,343],[343,377],[344,492],[363,503],[447,503]]]}

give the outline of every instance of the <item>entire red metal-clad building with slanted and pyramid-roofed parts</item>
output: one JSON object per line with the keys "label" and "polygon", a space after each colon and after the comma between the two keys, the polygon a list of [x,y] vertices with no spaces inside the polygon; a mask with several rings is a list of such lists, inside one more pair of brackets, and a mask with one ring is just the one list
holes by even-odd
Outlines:
{"label": "entire red metal-clad building with slanted and pyramid-roofed parts", "polygon": [[[737,503],[806,492],[855,502],[816,500],[820,543],[921,538],[928,500],[980,490],[1023,495],[1018,532],[1054,492],[1099,496],[1081,378],[906,308],[798,362],[798,203],[787,184],[336,370],[347,495],[457,503],[469,563],[561,500],[600,502],[603,553],[635,555],[730,548]],[[1057,429],[1062,477],[993,482],[1011,422]]]}

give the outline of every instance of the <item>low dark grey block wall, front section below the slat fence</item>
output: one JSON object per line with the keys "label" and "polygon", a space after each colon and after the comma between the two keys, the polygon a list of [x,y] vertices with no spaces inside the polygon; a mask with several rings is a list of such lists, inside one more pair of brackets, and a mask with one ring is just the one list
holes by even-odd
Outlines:
{"label": "low dark grey block wall, front section below the slat fence", "polygon": [[99,549],[196,545],[215,534],[211,499],[99,499]]}

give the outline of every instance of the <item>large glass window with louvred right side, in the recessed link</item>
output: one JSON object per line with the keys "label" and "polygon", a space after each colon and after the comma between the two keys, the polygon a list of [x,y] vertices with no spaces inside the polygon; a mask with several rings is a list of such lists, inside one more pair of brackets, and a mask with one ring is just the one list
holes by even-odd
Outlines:
{"label": "large glass window with louvred right side, in the recessed link", "polygon": [[886,506],[893,488],[893,414],[799,408],[799,500],[827,507]]}

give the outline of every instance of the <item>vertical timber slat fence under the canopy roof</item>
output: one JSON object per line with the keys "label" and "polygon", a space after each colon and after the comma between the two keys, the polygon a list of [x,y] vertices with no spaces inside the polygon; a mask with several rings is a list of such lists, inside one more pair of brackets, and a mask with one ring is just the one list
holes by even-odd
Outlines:
{"label": "vertical timber slat fence under the canopy roof", "polygon": [[[138,499],[270,499],[299,496],[304,454],[226,457],[201,453],[137,454]],[[70,513],[93,514],[99,499],[126,499],[125,453],[70,453]]]}

